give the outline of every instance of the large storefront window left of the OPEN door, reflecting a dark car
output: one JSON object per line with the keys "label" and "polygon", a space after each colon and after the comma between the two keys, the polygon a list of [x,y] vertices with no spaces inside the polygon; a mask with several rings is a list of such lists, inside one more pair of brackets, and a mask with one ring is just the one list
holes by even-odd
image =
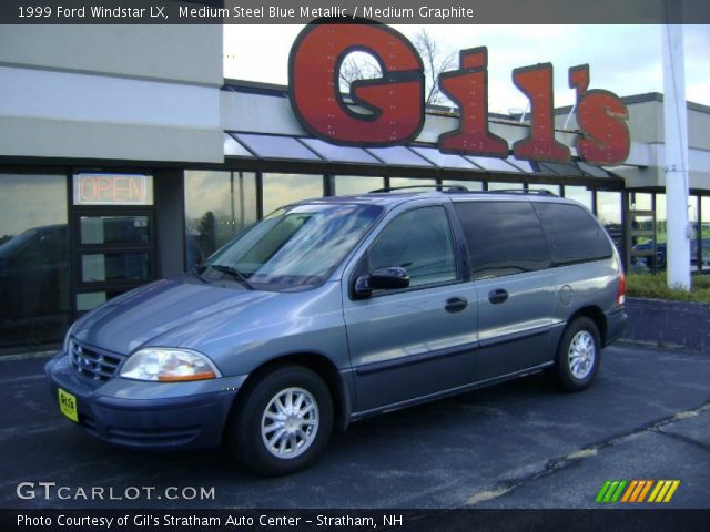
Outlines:
{"label": "large storefront window left of the OPEN door, reflecting a dark car", "polygon": [[61,339],[69,272],[67,177],[0,174],[0,346]]}

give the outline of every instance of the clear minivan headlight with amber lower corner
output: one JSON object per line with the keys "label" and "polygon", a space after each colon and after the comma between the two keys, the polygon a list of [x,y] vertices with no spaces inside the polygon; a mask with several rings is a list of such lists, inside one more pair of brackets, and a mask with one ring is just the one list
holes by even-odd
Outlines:
{"label": "clear minivan headlight with amber lower corner", "polygon": [[158,382],[181,382],[222,377],[212,361],[196,351],[148,347],[135,351],[121,368],[121,377]]}

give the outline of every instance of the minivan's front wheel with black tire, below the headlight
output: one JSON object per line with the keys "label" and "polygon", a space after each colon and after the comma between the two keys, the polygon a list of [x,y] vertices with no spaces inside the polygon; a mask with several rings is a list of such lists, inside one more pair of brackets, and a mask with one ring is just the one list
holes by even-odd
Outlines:
{"label": "minivan's front wheel with black tire, below the headlight", "polygon": [[253,472],[291,474],[325,450],[333,430],[333,399],[314,371],[280,366],[250,382],[236,400],[230,447]]}

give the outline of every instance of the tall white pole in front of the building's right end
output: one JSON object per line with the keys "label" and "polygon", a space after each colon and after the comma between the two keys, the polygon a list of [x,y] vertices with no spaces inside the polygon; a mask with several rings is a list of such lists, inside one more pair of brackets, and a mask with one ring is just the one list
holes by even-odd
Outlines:
{"label": "tall white pole in front of the building's right end", "polygon": [[[669,9],[668,0],[666,9]],[[690,289],[688,226],[688,113],[680,24],[661,27],[663,41],[663,135],[668,286]]]}

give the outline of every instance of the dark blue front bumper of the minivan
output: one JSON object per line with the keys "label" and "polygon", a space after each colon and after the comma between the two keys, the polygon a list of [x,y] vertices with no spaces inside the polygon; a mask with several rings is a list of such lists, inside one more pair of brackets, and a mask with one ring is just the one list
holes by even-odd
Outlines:
{"label": "dark blue front bumper of the minivan", "polygon": [[[192,382],[144,382],[82,377],[59,354],[44,367],[52,398],[77,398],[78,424],[112,444],[132,449],[216,447],[246,376]],[[59,409],[59,407],[58,407]]]}

